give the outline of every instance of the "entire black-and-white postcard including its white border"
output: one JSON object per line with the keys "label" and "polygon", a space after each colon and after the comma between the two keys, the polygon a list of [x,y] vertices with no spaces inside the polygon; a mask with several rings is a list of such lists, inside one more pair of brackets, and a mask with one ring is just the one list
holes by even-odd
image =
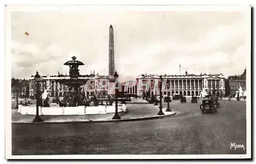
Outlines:
{"label": "entire black-and-white postcard including its white border", "polygon": [[250,6],[5,10],[7,159],[251,158]]}

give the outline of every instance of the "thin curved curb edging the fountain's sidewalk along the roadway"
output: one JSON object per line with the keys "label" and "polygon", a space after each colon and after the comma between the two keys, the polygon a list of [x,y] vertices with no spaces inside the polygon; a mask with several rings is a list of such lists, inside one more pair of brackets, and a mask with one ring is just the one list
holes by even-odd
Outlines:
{"label": "thin curved curb edging the fountain's sidewalk along the roadway", "polygon": [[[127,111],[128,112],[128,111]],[[126,112],[126,113],[127,113]],[[124,113],[125,114],[125,113]],[[166,118],[167,116],[173,116],[173,114],[168,115],[159,115],[159,116],[148,116],[148,117],[141,117],[141,118],[133,118],[133,119],[120,119],[120,120],[89,120],[89,121],[69,121],[69,122],[39,122],[39,123],[12,123],[12,124],[69,124],[69,123],[110,123],[110,122],[128,122],[128,121],[142,121],[142,120],[154,120],[154,119],[161,119]],[[123,114],[122,114],[123,115]],[[121,116],[121,115],[120,115]]]}

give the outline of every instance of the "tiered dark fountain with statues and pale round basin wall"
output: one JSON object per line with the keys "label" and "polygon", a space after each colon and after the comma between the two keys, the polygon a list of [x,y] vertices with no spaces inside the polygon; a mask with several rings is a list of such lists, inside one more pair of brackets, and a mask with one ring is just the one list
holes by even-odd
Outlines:
{"label": "tiered dark fountain with statues and pale round basin wall", "polygon": [[[79,74],[79,65],[84,65],[81,61],[76,60],[73,56],[72,60],[67,61],[64,65],[69,65],[69,77],[56,79],[56,82],[67,85],[69,91],[62,101],[57,99],[58,104],[51,104],[49,106],[39,106],[39,115],[84,115],[84,114],[106,114],[115,113],[115,105],[110,103],[100,104],[96,100],[94,106],[91,106],[86,101],[84,92],[81,91],[81,86],[85,84],[88,79],[81,79]],[[41,95],[41,99],[48,100],[48,93],[45,90]],[[83,101],[84,100],[84,101]],[[47,104],[47,103],[46,103]],[[97,104],[97,105],[95,105]],[[18,105],[18,112],[21,114],[36,114],[36,106]],[[118,112],[126,111],[126,104],[118,104]]]}

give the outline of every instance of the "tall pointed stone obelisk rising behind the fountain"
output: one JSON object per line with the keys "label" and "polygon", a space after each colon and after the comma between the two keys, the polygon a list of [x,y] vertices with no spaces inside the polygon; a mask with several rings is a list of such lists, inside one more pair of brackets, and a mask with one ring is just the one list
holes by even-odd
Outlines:
{"label": "tall pointed stone obelisk rising behind the fountain", "polygon": [[114,57],[114,31],[110,25],[110,38],[109,38],[109,76],[115,73],[115,57]]}

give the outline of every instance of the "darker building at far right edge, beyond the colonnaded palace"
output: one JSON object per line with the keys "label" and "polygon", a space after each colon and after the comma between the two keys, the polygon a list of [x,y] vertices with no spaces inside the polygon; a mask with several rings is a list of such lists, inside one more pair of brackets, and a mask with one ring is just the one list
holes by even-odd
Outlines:
{"label": "darker building at far right edge, beyond the colonnaded palace", "polygon": [[240,86],[243,90],[246,90],[246,68],[244,69],[244,73],[242,75],[229,76],[229,86],[230,93],[233,95]]}

